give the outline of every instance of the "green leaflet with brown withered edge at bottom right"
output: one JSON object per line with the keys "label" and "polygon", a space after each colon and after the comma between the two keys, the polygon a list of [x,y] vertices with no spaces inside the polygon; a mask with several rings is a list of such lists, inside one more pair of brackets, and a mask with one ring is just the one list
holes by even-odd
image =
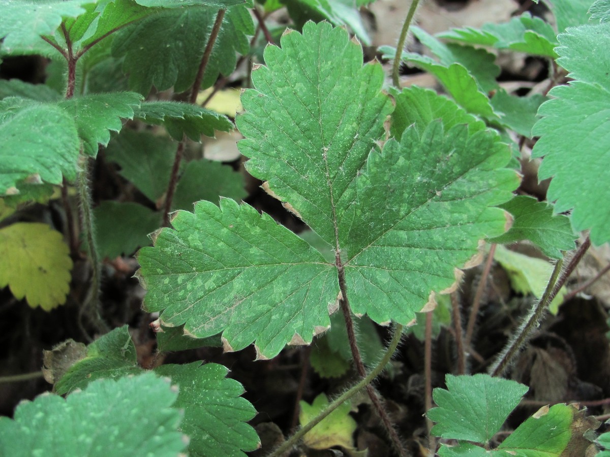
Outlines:
{"label": "green leaflet with brown withered edge at bottom right", "polygon": [[[561,457],[572,436],[573,406],[543,406],[498,446],[509,455]],[[506,454],[503,454],[506,455]]]}

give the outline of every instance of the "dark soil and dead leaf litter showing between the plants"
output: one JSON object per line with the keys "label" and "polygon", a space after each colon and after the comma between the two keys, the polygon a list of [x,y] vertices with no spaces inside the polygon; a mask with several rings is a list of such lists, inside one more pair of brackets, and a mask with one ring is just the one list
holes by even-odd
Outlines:
{"label": "dark soil and dead leaf litter showing between the plants", "polygon": [[[418,25],[430,33],[457,26],[481,26],[486,22],[508,21],[512,15],[529,10],[534,15],[548,18],[542,5],[529,0],[429,0],[423,2],[418,13]],[[394,44],[406,16],[410,2],[405,0],[378,0],[365,13],[370,27],[373,45]],[[278,17],[276,20],[280,21]],[[411,49],[422,50],[418,43]],[[369,57],[375,49],[367,49]],[[519,54],[501,54],[498,58],[502,73],[501,85],[512,93],[525,95],[540,93],[548,87],[547,62]],[[0,66],[0,77],[40,83],[45,80],[45,60],[36,57],[7,58]],[[389,71],[387,72],[389,74]],[[432,87],[440,90],[432,76],[414,69],[403,68],[404,85]],[[239,81],[237,82],[239,83]],[[523,141],[523,155],[533,146]],[[231,154],[228,154],[229,159]],[[233,160],[235,169],[242,169],[240,158]],[[545,198],[545,183],[536,179],[536,161],[523,160],[523,183],[519,192]],[[112,165],[99,155],[96,164],[94,196],[96,201],[120,197],[118,175]],[[249,178],[248,204],[271,214],[278,222],[295,232],[305,227],[287,213],[276,200],[267,196]],[[583,183],[583,185],[585,185]],[[34,205],[21,214],[22,220],[45,221],[63,233],[66,232],[66,214],[60,202]],[[512,246],[530,255],[542,257],[527,244]],[[0,377],[38,372],[43,364],[43,350],[72,338],[87,342],[79,328],[77,303],[87,292],[89,267],[84,257],[74,257],[73,283],[68,302],[46,313],[32,309],[27,303],[16,300],[8,288],[0,289]],[[549,403],[580,402],[587,406],[587,414],[605,420],[610,417],[610,346],[608,339],[608,309],[610,307],[610,278],[602,276],[584,289],[580,286],[603,271],[610,260],[609,247],[591,248],[581,266],[569,280],[568,299],[556,316],[547,316],[544,324],[523,350],[508,377],[527,384],[530,389],[526,400],[507,423],[506,434],[520,421]],[[2,260],[0,260],[2,261]],[[263,455],[270,445],[282,439],[298,425],[298,401],[312,402],[321,392],[334,395],[342,392],[356,378],[353,371],[340,378],[322,378],[310,367],[310,348],[287,348],[273,360],[254,361],[252,347],[237,353],[223,353],[221,348],[204,347],[177,353],[156,353],[155,334],[149,324],[156,319],[141,309],[145,291],[134,278],[137,262],[133,257],[104,261],[102,300],[104,319],[112,326],[128,324],[137,347],[138,361],[143,367],[161,363],[187,363],[190,361],[215,362],[227,366],[230,377],[243,384],[244,397],[259,412],[252,424],[263,441],[263,449],[252,455]],[[456,293],[466,322],[472,306],[476,287],[481,282],[483,266],[466,272]],[[485,372],[493,356],[503,347],[511,331],[533,302],[531,296],[521,296],[511,288],[506,272],[493,264],[486,278],[483,299],[473,338],[473,348],[468,358],[470,373]],[[389,338],[389,329],[378,327],[382,341]],[[315,344],[315,341],[314,341]],[[432,385],[444,387],[447,373],[456,373],[454,332],[442,328],[433,342]],[[407,447],[417,456],[429,455],[424,414],[423,342],[414,335],[406,336],[392,361],[392,369],[376,382],[376,387],[386,401],[386,408],[397,424]],[[0,384],[0,414],[12,416],[13,409],[23,399],[33,399],[41,392],[49,391],[51,384],[43,378]],[[390,456],[392,450],[378,418],[365,395],[357,397],[353,417],[358,423],[354,434],[357,448],[368,448],[370,456]],[[605,430],[602,426],[600,431]],[[498,436],[501,440],[502,436]],[[301,450],[301,455],[337,456],[361,455],[348,450]]]}

